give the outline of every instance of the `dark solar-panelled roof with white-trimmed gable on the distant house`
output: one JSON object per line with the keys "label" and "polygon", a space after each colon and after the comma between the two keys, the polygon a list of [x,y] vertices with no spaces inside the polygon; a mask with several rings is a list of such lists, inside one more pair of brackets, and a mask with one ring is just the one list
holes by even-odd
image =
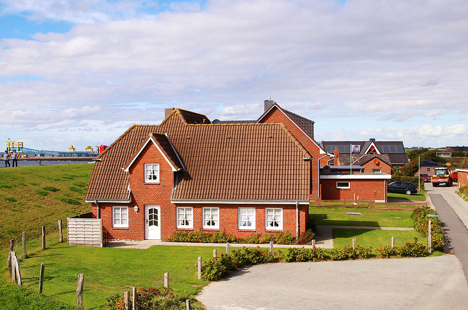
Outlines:
{"label": "dark solar-panelled roof with white-trimmed gable on the distant house", "polygon": [[335,150],[339,154],[359,155],[387,155],[393,167],[401,167],[408,163],[408,157],[404,152],[401,141],[322,141],[322,147],[327,153],[333,154]]}

